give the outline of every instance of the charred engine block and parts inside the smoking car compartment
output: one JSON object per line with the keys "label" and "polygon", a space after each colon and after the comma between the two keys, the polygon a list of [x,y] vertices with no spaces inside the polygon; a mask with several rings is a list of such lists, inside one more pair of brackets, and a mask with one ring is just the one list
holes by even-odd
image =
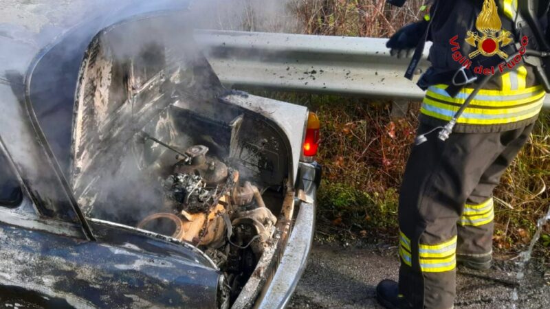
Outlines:
{"label": "charred engine block and parts inside the smoking car compartment", "polygon": [[[137,227],[190,242],[232,273],[235,286],[243,270],[252,271],[272,238],[276,216],[258,187],[241,183],[239,171],[208,155],[208,147],[190,147],[166,179],[164,209]],[[250,275],[250,274],[249,274]]]}

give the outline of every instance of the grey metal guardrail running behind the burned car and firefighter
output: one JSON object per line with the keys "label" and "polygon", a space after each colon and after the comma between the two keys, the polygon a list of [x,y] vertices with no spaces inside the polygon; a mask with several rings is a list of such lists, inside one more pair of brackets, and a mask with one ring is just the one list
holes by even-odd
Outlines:
{"label": "grey metal guardrail running behind the burned car and firefighter", "polygon": [[[197,31],[195,37],[227,87],[423,98],[415,82],[403,77],[410,59],[391,57],[384,38],[212,30]],[[418,73],[428,68],[429,47]],[[544,104],[550,108],[550,95]]]}

